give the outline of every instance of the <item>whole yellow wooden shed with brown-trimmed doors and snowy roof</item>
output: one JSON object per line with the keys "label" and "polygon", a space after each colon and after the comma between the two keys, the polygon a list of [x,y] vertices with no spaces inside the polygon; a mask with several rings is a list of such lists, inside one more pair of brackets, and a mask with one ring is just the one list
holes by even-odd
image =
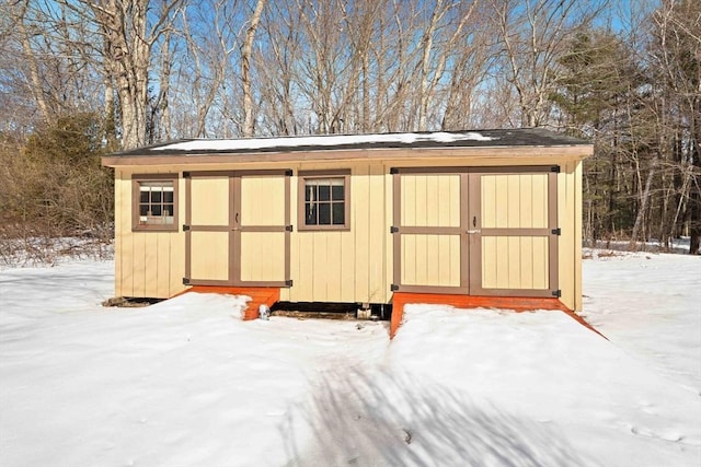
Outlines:
{"label": "whole yellow wooden shed with brown-trimmed doors and snowy roof", "polygon": [[115,294],[263,288],[275,301],[367,307],[421,293],[579,311],[591,153],[543,129],[494,129],[193,139],[107,155]]}

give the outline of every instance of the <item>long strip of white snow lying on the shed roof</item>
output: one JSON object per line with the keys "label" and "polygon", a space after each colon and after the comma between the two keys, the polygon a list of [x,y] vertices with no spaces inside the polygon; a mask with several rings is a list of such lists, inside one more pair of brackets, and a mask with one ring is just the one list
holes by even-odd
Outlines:
{"label": "long strip of white snow lying on the shed roof", "polygon": [[432,133],[386,133],[386,135],[330,135],[284,138],[246,138],[246,139],[196,139],[175,142],[152,148],[152,151],[245,151],[269,148],[297,147],[342,147],[374,143],[412,144],[421,141],[449,143],[456,141],[492,141],[497,138],[487,137],[476,131]]}

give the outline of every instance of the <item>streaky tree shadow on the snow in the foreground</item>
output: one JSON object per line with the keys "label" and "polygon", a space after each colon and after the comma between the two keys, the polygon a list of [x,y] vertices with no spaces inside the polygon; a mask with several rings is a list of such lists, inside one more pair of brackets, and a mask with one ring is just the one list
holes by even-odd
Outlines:
{"label": "streaky tree shadow on the snow in the foreground", "polygon": [[406,373],[344,367],[311,387],[280,427],[289,467],[593,464],[548,427]]}

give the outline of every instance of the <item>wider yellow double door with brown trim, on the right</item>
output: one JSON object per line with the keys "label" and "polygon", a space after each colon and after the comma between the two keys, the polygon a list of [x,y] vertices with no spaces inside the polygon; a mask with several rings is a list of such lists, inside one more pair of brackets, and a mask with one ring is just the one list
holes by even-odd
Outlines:
{"label": "wider yellow double door with brown trim, on the right", "polygon": [[558,167],[392,172],[393,290],[558,295]]}

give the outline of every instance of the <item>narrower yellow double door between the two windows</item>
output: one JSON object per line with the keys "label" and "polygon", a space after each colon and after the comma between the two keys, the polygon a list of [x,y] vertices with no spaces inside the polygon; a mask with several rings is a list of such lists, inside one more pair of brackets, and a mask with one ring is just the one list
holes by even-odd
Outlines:
{"label": "narrower yellow double door between the two windows", "polygon": [[291,171],[183,176],[184,283],[289,287]]}

